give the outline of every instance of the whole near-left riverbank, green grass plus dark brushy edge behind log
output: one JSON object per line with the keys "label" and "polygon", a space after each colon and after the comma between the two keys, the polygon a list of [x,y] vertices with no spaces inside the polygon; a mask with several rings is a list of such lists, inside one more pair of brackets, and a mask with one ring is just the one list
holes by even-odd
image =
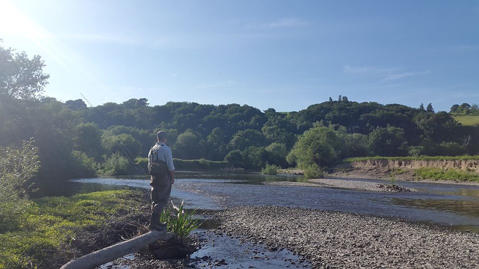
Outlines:
{"label": "whole near-left riverbank, green grass plus dark brushy edge behind log", "polygon": [[0,268],[60,268],[76,257],[140,233],[149,220],[147,193],[100,191],[43,197],[0,234]]}

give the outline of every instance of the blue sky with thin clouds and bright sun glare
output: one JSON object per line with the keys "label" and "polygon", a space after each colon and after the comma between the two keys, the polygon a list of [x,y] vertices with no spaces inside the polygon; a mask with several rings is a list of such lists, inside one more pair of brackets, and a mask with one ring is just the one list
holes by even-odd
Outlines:
{"label": "blue sky with thin clouds and bright sun glare", "polygon": [[63,102],[479,103],[477,0],[0,0],[0,38]]}

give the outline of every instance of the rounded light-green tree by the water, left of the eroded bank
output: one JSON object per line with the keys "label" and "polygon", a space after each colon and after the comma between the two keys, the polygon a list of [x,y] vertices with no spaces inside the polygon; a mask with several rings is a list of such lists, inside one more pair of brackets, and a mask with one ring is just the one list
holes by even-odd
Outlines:
{"label": "rounded light-green tree by the water, left of the eroded bank", "polygon": [[328,167],[341,159],[344,140],[331,128],[315,127],[304,132],[286,157],[290,164],[297,163],[301,169],[311,165]]}

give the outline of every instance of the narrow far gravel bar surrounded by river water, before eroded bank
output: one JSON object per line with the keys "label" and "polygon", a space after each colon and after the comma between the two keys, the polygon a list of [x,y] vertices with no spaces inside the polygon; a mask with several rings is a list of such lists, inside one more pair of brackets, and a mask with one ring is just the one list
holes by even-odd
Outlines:
{"label": "narrow far gravel bar surrounded by river water, before eroded bank", "polygon": [[335,187],[345,189],[361,189],[368,191],[389,191],[389,192],[416,192],[417,189],[408,188],[393,184],[375,183],[359,180],[347,180],[347,179],[330,179],[319,178],[310,179],[310,182],[321,184],[324,187]]}

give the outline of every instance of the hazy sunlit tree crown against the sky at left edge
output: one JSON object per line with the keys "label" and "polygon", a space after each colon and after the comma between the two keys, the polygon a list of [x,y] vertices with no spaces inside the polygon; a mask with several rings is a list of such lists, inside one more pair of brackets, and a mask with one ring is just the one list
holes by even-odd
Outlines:
{"label": "hazy sunlit tree crown against the sky at left edge", "polygon": [[36,99],[48,84],[49,75],[39,55],[31,59],[25,52],[15,52],[0,45],[0,97]]}

